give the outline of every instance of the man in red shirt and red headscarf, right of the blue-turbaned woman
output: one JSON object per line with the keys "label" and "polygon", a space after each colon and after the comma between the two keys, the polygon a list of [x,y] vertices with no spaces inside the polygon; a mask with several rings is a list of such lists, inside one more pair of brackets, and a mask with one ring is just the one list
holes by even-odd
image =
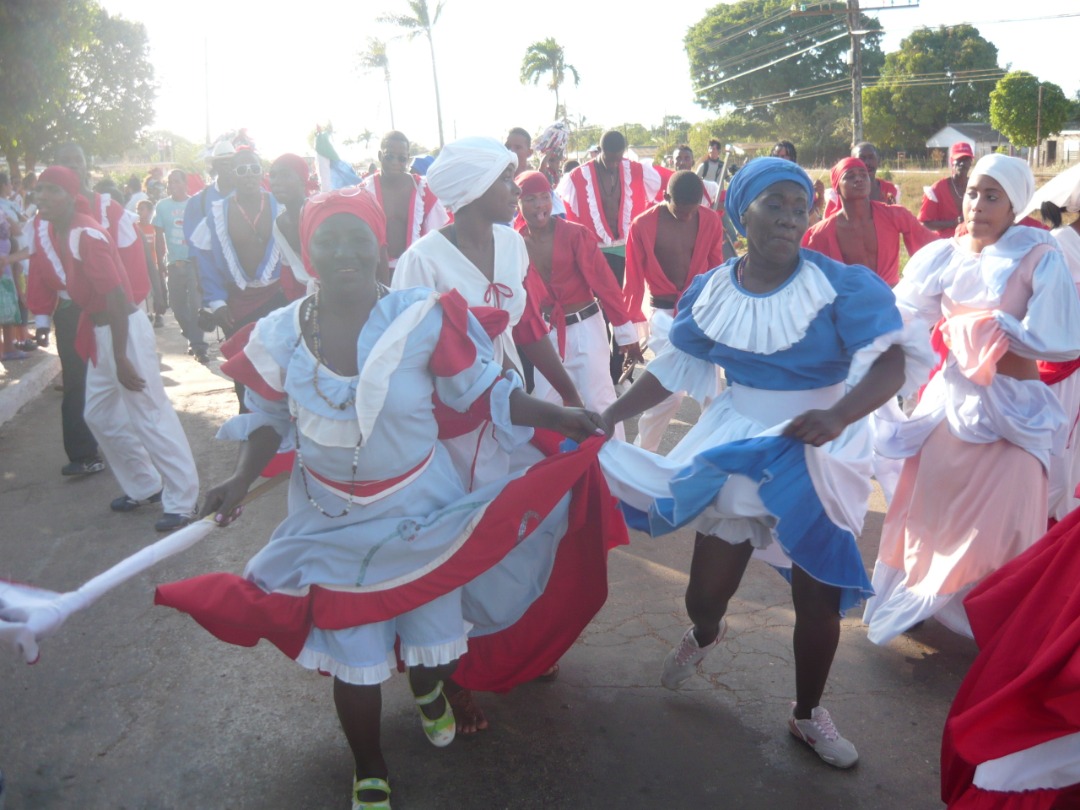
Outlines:
{"label": "man in red shirt and red headscarf, right of the blue-turbaned woman", "polygon": [[903,205],[870,200],[870,176],[858,158],[845,158],[833,167],[833,189],[841,208],[813,226],[802,246],[847,265],[863,265],[889,286],[900,281],[900,240],[908,254],[937,239]]}

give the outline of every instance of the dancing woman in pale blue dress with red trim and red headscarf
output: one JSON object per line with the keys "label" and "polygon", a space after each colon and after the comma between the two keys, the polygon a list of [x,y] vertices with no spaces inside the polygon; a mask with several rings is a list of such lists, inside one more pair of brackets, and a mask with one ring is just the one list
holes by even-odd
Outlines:
{"label": "dancing woman in pale blue dress with red trim and red headscarf", "polygon": [[[310,199],[300,237],[320,289],[225,350],[222,368],[247,386],[251,413],[219,434],[243,445],[235,472],[205,507],[230,523],[268,461],[293,448],[288,515],[243,577],[164,585],[157,602],[224,640],[267,638],[332,675],[355,760],[353,808],[384,810],[380,684],[400,657],[428,738],[453,741],[443,684],[467,651],[470,626],[499,632],[539,598],[555,576],[568,491],[590,465],[588,451],[565,454],[467,492],[438,441],[433,397],[489,420],[508,448],[528,441],[532,427],[595,436],[586,444],[595,464],[602,431],[595,414],[525,394],[492,361],[487,334],[456,293],[378,283],[386,225],[366,191]],[[507,567],[513,571],[502,577]],[[534,669],[551,664],[521,649]]]}

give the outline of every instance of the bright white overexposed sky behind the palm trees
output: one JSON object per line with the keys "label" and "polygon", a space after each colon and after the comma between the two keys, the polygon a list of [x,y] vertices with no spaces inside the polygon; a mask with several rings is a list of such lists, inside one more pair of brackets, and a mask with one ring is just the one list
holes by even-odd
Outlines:
{"label": "bright white overexposed sky behind the palm trees", "polygon": [[[378,37],[389,42],[394,127],[414,143],[438,145],[427,40],[393,39],[396,30],[377,22],[380,14],[407,11],[405,0],[305,0],[289,13],[278,11],[284,5],[241,0],[100,2],[147,28],[160,84],[152,129],[202,143],[208,112],[212,137],[246,127],[258,150],[272,159],[286,151],[310,154],[308,134],[329,121],[342,157],[373,157],[378,136],[391,129],[387,85],[381,71],[357,68],[357,54],[369,37]],[[584,116],[586,125],[617,127],[658,125],[665,116],[691,122],[715,118],[693,103],[683,39],[716,4],[681,0],[672,6],[677,14],[661,15],[654,3],[626,2],[622,8],[629,13],[615,16],[581,0],[446,0],[434,28],[445,138],[502,138],[511,126],[536,134],[551,123],[555,102],[543,80],[523,86],[518,79],[528,45],[548,37],[563,45],[566,62],[581,77],[579,86],[568,83],[561,91],[571,120]],[[917,9],[874,16],[886,29],[886,53],[920,26],[971,23],[998,46],[1002,67],[1028,70],[1072,97],[1080,90],[1080,16],[1052,17],[1078,11],[1077,0],[1030,6],[1013,0],[921,0]],[[991,87],[987,84],[987,93]],[[376,133],[369,145],[345,145],[365,130]]]}

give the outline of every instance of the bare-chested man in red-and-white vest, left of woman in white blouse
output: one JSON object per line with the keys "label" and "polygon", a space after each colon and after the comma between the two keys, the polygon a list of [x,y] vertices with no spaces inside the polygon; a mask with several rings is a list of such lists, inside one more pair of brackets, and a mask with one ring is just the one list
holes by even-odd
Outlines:
{"label": "bare-chested man in red-and-white vest, left of woman in white blouse", "polygon": [[379,144],[380,171],[364,178],[364,188],[375,194],[387,216],[387,247],[390,252],[390,283],[397,258],[409,245],[450,221],[446,208],[428,188],[428,180],[405,171],[409,161],[409,141],[396,130],[382,136]]}

